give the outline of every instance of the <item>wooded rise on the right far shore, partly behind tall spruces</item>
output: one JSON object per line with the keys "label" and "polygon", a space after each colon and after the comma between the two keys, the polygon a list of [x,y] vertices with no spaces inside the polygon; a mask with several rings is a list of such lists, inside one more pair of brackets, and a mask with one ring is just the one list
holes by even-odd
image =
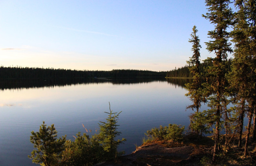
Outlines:
{"label": "wooded rise on the right far shore, partly behind tall spruces", "polygon": [[[227,61],[226,61],[226,70],[228,72],[230,72],[230,65],[232,63],[232,58],[229,58]],[[207,66],[212,66],[212,59],[209,58],[209,59],[205,59],[203,62],[200,63],[199,65],[199,72],[200,73],[205,73],[204,71],[204,68],[207,67]],[[166,77],[182,77],[182,78],[192,78],[192,75],[189,71],[189,66],[188,65],[185,65],[184,67],[181,67],[181,68],[178,68],[176,69],[173,69],[169,72],[166,73]]]}

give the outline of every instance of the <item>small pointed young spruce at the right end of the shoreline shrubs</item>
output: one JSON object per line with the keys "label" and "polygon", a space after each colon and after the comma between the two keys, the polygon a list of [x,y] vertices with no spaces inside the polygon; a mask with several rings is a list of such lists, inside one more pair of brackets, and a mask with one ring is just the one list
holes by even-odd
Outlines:
{"label": "small pointed young spruce at the right end of the shoreline shrubs", "polygon": [[119,144],[124,143],[126,139],[122,140],[115,140],[116,136],[119,136],[121,132],[117,131],[117,118],[119,114],[122,112],[119,112],[118,114],[113,113],[110,109],[110,103],[109,103],[109,113],[108,118],[106,118],[107,122],[101,122],[100,125],[100,143],[102,144],[103,149],[108,152],[109,159],[113,159],[117,157],[117,147]]}

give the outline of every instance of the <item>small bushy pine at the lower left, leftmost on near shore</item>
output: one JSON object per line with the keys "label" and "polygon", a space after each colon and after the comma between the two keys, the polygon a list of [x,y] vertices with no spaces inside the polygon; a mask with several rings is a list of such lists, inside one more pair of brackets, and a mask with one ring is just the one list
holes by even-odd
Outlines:
{"label": "small bushy pine at the lower left, leftmost on near shore", "polygon": [[57,139],[57,131],[54,124],[46,127],[43,124],[39,128],[39,132],[31,132],[30,142],[34,144],[34,149],[29,158],[33,159],[32,162],[44,166],[52,166],[57,163],[60,158],[60,152],[64,149],[66,136]]}

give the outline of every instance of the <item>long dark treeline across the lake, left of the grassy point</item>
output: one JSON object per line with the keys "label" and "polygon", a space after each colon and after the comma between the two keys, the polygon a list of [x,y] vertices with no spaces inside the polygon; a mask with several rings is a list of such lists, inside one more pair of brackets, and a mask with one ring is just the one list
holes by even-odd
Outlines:
{"label": "long dark treeline across the lake, left of the grassy point", "polygon": [[148,70],[89,71],[53,68],[0,67],[0,79],[70,79],[93,77],[165,77],[166,72]]}

